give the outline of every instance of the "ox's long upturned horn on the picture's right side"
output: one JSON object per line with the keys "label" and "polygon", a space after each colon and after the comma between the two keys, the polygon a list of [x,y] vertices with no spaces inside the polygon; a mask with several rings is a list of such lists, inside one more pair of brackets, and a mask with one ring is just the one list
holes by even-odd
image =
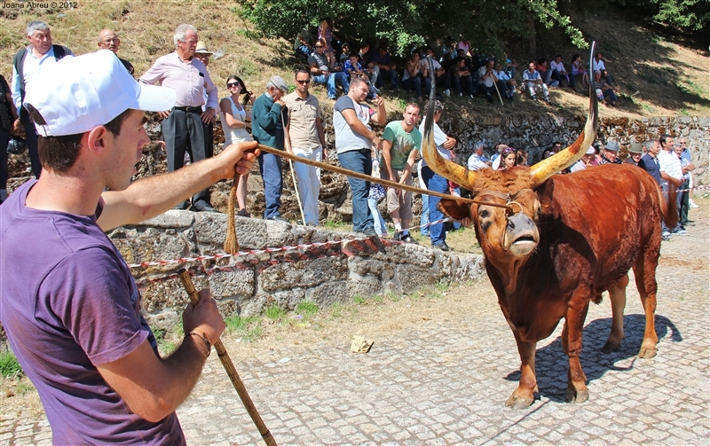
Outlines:
{"label": "ox's long upturned horn on the picture's right side", "polygon": [[[589,51],[589,67],[593,67],[594,50],[596,43],[592,42],[591,50]],[[530,168],[530,175],[533,177],[533,188],[543,184],[550,176],[564,168],[569,168],[581,159],[589,149],[589,146],[594,143],[596,138],[596,118],[597,118],[597,100],[594,82],[589,81],[589,114],[587,123],[584,126],[584,132],[578,137],[572,145],[566,149],[549,157],[547,160],[541,160]],[[427,161],[429,162],[429,161]]]}

